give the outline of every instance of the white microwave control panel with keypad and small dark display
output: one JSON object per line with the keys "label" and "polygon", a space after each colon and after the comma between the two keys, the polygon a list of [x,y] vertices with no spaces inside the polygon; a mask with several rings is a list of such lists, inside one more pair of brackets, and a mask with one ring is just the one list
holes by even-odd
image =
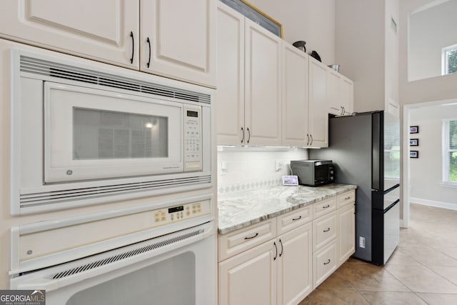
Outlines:
{"label": "white microwave control panel with keypad and small dark display", "polygon": [[184,171],[201,171],[201,106],[184,106]]}

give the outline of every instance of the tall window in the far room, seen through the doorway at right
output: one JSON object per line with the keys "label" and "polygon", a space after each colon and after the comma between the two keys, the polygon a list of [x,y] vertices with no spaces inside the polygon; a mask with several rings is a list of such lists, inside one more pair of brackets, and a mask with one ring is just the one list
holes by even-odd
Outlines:
{"label": "tall window in the far room, seen through the doorway at right", "polygon": [[443,121],[443,182],[457,184],[457,119]]}

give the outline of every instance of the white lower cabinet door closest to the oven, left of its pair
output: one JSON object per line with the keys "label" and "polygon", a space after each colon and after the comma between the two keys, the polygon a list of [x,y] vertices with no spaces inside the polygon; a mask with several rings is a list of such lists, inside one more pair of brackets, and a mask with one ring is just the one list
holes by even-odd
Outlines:
{"label": "white lower cabinet door closest to the oven, left of its pair", "polygon": [[273,241],[219,263],[219,305],[276,304]]}

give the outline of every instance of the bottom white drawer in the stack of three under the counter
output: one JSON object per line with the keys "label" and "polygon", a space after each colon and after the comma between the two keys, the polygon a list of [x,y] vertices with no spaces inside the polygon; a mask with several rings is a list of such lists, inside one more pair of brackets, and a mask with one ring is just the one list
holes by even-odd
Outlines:
{"label": "bottom white drawer in the stack of three under the counter", "polygon": [[313,254],[314,289],[336,270],[336,241]]}

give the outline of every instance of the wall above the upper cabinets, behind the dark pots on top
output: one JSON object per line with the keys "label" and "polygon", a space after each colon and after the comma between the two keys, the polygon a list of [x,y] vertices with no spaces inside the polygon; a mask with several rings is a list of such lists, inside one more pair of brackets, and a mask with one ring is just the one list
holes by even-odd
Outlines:
{"label": "wall above the upper cabinets, behind the dark pots on top", "polygon": [[290,44],[306,41],[306,53],[315,50],[324,64],[335,64],[335,0],[248,0],[283,25]]}

